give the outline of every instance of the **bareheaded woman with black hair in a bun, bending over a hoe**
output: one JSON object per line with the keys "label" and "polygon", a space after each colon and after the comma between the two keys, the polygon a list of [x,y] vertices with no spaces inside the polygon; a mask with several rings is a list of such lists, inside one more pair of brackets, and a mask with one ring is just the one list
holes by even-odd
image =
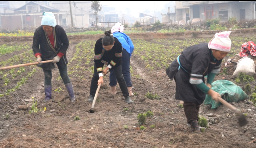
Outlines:
{"label": "bareheaded woman with black hair in a bun, bending over a hoe", "polygon": [[[113,69],[125,102],[128,104],[133,103],[129,97],[127,85],[122,74],[122,52],[122,44],[117,38],[113,37],[111,31],[106,31],[105,36],[96,41],[94,47],[94,74],[91,81],[89,102],[93,101],[97,85],[103,83],[103,73],[107,74],[108,69]],[[107,65],[105,69],[103,69],[104,64]]]}

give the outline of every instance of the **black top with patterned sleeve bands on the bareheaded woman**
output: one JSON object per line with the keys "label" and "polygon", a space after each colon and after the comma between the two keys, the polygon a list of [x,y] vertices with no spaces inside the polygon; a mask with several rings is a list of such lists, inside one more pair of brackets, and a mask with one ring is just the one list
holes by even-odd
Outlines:
{"label": "black top with patterned sleeve bands on the bareheaded woman", "polygon": [[102,39],[100,38],[96,41],[95,47],[94,47],[94,62],[96,64],[96,68],[98,73],[102,73],[103,69],[102,67],[104,64],[108,65],[110,64],[112,68],[117,67],[122,64],[122,52],[123,47],[121,42],[118,41],[117,38],[114,37],[114,46],[109,51],[106,51],[103,48],[102,45]]}

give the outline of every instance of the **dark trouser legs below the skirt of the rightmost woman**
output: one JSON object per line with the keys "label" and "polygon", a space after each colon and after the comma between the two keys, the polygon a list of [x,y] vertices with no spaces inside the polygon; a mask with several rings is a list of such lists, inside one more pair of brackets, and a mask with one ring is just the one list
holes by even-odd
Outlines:
{"label": "dark trouser legs below the skirt of the rightmost woman", "polygon": [[183,107],[184,107],[184,112],[187,117],[188,123],[190,123],[193,120],[199,119],[198,113],[199,113],[200,105],[196,105],[195,103],[184,101]]}

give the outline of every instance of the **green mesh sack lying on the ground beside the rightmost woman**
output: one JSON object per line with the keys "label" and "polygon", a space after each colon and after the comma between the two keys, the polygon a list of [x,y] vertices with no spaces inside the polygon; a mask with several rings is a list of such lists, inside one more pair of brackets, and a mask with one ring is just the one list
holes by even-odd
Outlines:
{"label": "green mesh sack lying on the ground beside the rightmost woman", "polygon": [[[219,93],[221,98],[227,102],[239,102],[248,98],[248,95],[231,81],[227,80],[217,80],[212,83],[212,90]],[[212,109],[217,108],[221,105],[220,102],[216,102],[212,99],[210,95],[206,95],[204,100],[205,105],[212,105]]]}

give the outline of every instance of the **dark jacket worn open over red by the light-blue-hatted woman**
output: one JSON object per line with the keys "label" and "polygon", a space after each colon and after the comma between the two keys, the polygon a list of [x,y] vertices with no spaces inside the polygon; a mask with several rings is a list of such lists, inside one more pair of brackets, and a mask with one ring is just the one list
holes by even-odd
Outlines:
{"label": "dark jacket worn open over red by the light-blue-hatted woman", "polygon": [[[68,64],[68,60],[66,57],[66,51],[69,46],[68,42],[68,36],[64,29],[60,25],[56,25],[55,27],[55,36],[54,37],[54,49],[56,50],[57,53],[63,53],[64,56],[60,58],[60,61],[57,63],[58,66],[63,67]],[[54,31],[53,31],[54,34]],[[53,51],[53,49],[50,47],[49,42],[47,41],[47,34],[43,30],[43,26],[39,26],[33,37],[33,44],[32,44],[32,49],[34,54],[40,53],[42,56],[42,60],[52,60],[54,56],[57,55],[56,52]],[[42,66],[44,70],[51,70],[54,68],[53,63],[44,63]]]}

